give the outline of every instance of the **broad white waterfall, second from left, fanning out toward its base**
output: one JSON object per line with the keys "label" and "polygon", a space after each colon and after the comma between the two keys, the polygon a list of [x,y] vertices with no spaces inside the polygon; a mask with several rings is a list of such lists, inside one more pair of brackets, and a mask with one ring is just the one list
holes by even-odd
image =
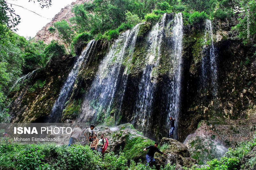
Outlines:
{"label": "broad white waterfall, second from left, fanning out toward its base", "polygon": [[[87,122],[94,118],[98,123],[103,123],[109,116],[116,90],[119,87],[122,87],[122,91],[125,89],[127,76],[122,74],[123,59],[128,56],[127,62],[131,61],[140,25],[141,23],[134,26],[131,31],[122,33],[101,61],[92,85],[85,94],[82,113],[77,118],[78,122]],[[124,74],[127,71],[128,68],[125,68]],[[120,97],[122,96],[118,98]],[[119,105],[120,102],[122,101],[119,101]]]}

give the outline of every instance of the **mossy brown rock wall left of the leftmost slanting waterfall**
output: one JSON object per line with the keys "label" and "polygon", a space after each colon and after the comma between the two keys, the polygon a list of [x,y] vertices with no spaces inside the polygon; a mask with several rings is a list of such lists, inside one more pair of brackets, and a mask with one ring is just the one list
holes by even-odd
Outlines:
{"label": "mossy brown rock wall left of the leftmost slanting waterfall", "polygon": [[65,55],[28,74],[20,90],[9,96],[12,122],[44,122],[52,110],[75,58]]}

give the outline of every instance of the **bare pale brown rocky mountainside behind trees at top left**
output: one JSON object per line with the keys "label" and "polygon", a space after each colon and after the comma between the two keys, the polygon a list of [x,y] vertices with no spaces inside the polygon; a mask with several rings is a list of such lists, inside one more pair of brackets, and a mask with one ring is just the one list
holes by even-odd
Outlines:
{"label": "bare pale brown rocky mountainside behind trees at top left", "polygon": [[45,44],[49,44],[52,40],[60,41],[60,38],[58,36],[58,32],[55,32],[54,34],[51,34],[48,29],[53,26],[53,23],[61,20],[65,20],[70,24],[69,18],[74,17],[74,13],[71,12],[71,9],[73,5],[77,4],[83,4],[84,2],[89,2],[90,0],[76,0],[76,2],[71,3],[70,5],[67,5],[65,8],[62,8],[58,14],[56,14],[52,21],[46,24],[42,30],[38,31],[35,36],[35,40],[41,40],[44,41]]}

